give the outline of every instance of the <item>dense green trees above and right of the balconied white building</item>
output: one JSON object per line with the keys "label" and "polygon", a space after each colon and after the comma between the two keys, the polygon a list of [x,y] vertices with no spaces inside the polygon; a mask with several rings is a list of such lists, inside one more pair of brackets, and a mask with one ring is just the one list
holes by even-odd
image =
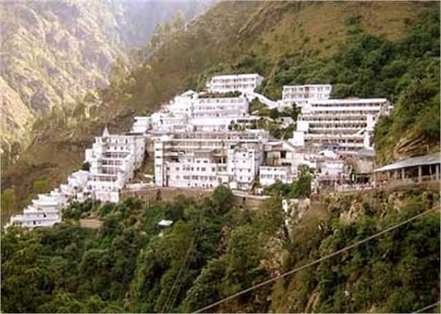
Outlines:
{"label": "dense green trees above and right of the balconied white building", "polygon": [[[346,45],[327,59],[305,58],[300,54],[281,57],[274,70],[276,74],[266,79],[260,90],[271,97],[280,94],[287,84],[331,83],[335,98],[386,97],[395,109],[376,129],[380,161],[384,163],[406,155],[406,151],[407,155],[413,155],[437,149],[440,140],[439,12],[423,12],[409,34],[396,42],[366,34],[356,17],[348,19],[347,32]],[[397,151],[396,156],[390,151]]]}

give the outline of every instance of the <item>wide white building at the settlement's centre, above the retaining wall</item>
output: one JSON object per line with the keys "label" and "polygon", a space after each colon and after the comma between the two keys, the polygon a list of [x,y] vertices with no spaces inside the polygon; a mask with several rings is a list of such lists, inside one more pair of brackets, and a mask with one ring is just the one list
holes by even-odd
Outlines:
{"label": "wide white building at the settlement's centre, above the retaining wall", "polygon": [[207,188],[233,184],[245,189],[257,174],[267,138],[263,130],[162,136],[154,143],[155,183]]}

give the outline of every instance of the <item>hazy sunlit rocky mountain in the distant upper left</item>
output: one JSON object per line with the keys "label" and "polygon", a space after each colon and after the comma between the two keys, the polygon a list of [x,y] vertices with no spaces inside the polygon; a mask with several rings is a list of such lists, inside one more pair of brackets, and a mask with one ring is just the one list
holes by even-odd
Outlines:
{"label": "hazy sunlit rocky mountain in the distant upper left", "polygon": [[174,19],[177,12],[191,19],[209,4],[2,1],[2,150],[9,154],[12,145],[25,147],[32,123],[53,107],[73,107],[88,91],[105,87],[116,58],[128,62],[131,50],[145,45],[158,23]]}

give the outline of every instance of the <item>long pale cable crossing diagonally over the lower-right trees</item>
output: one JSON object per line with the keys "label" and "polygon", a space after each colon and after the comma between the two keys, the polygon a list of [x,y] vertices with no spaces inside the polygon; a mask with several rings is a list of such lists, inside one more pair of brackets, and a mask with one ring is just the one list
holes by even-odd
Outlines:
{"label": "long pale cable crossing diagonally over the lower-right trees", "polygon": [[307,264],[305,264],[305,265],[303,265],[303,266],[300,266],[300,267],[298,267],[298,268],[296,268],[296,269],[291,269],[291,271],[287,271],[286,273],[280,274],[280,275],[278,275],[278,276],[276,276],[276,277],[274,277],[274,278],[271,278],[271,279],[269,279],[269,280],[265,280],[264,282],[260,282],[260,284],[255,284],[254,286],[250,286],[249,288],[244,289],[244,290],[242,290],[242,291],[239,291],[238,293],[234,293],[233,295],[230,295],[229,297],[225,297],[225,298],[223,298],[223,299],[221,299],[221,300],[219,300],[219,301],[217,301],[217,302],[214,302],[214,303],[212,303],[212,304],[209,304],[208,306],[205,306],[205,307],[203,307],[203,308],[200,308],[200,309],[198,309],[197,311],[195,311],[194,313],[201,313],[201,312],[203,312],[203,311],[205,311],[205,310],[207,310],[207,309],[209,309],[209,308],[212,308],[213,306],[216,306],[216,305],[222,304],[222,303],[224,303],[224,302],[226,302],[226,301],[228,301],[228,300],[232,300],[232,299],[234,299],[235,297],[238,297],[239,295],[243,295],[244,293],[247,293],[247,292],[249,292],[249,291],[252,291],[252,290],[254,290],[254,289],[257,289],[257,288],[259,288],[260,286],[265,286],[266,284],[269,284],[269,283],[271,283],[271,282],[274,282],[274,281],[276,281],[276,280],[278,280],[278,279],[280,279],[280,278],[284,278],[284,277],[286,277],[287,275],[291,275],[292,273],[296,273],[297,271],[300,271],[300,270],[302,270],[302,269],[305,269],[305,268],[307,268],[307,267],[309,267],[309,266],[311,266],[311,265],[318,264],[319,262],[322,262],[323,260],[327,260],[328,258],[332,258],[332,257],[334,257],[334,256],[336,256],[336,255],[338,255],[338,254],[340,254],[340,253],[342,253],[342,252],[344,252],[344,251],[347,251],[347,250],[349,250],[349,249],[352,249],[353,247],[358,247],[358,245],[360,245],[360,244],[362,244],[362,243],[365,243],[365,242],[367,242],[367,241],[369,241],[369,240],[372,240],[373,238],[377,238],[378,236],[380,236],[380,235],[382,235],[382,234],[384,234],[384,233],[387,233],[387,232],[389,232],[389,231],[391,231],[391,230],[393,230],[393,229],[396,229],[396,228],[398,228],[398,227],[401,227],[403,224],[407,224],[408,222],[411,222],[412,220],[416,220],[416,219],[420,218],[421,216],[424,216],[425,214],[427,214],[427,213],[429,213],[429,212],[431,212],[431,211],[434,211],[434,210],[435,210],[435,209],[429,209],[429,210],[424,211],[424,212],[422,212],[422,213],[418,213],[418,215],[413,216],[413,217],[411,217],[411,218],[409,218],[409,219],[407,219],[407,220],[404,220],[403,222],[400,222],[400,223],[398,223],[398,224],[395,224],[395,225],[393,225],[392,227],[389,227],[389,228],[387,228],[387,229],[384,229],[383,231],[380,231],[380,232],[378,232],[378,233],[376,233],[376,234],[374,234],[374,235],[371,235],[371,236],[365,238],[364,240],[360,240],[360,241],[358,241],[358,242],[355,242],[355,243],[353,243],[353,244],[351,244],[351,245],[349,245],[349,246],[347,246],[347,247],[345,247],[345,248],[343,248],[343,249],[340,249],[340,250],[338,250],[338,251],[335,251],[334,253],[330,253],[330,254],[328,254],[328,255],[325,255],[325,256],[323,256],[322,258],[319,258],[318,260],[314,260],[313,262],[309,262],[309,263],[307,263]]}

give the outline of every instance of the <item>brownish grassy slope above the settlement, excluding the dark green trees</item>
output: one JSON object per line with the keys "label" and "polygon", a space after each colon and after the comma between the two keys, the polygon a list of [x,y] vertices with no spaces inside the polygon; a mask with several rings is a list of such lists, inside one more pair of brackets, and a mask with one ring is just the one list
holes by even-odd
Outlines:
{"label": "brownish grassy slope above the settlement, excluding the dark green trees", "polygon": [[127,129],[133,116],[157,109],[181,92],[188,76],[221,72],[222,65],[232,68],[244,54],[254,52],[265,59],[263,74],[271,79],[280,56],[301,52],[318,58],[337,51],[345,42],[344,22],[351,16],[362,15],[367,32],[399,39],[426,6],[402,2],[219,3],[190,23],[187,32],[174,34],[148,65],[136,67],[119,86],[124,97],[116,94],[115,86],[103,91],[107,107],[94,116],[94,121],[49,132],[40,130],[19,162],[6,171],[3,189],[17,189],[17,210],[21,210],[34,180],[45,178],[51,186],[58,185],[81,165],[83,149],[105,124],[111,132]]}

